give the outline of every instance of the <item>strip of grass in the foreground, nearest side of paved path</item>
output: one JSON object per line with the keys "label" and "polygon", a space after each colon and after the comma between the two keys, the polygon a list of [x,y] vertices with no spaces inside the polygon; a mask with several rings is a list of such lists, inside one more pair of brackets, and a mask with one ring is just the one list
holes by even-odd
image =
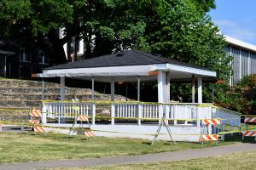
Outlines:
{"label": "strip of grass in the foreground, nearest side of paved path", "polygon": [[[109,167],[77,167],[56,168],[54,170],[137,170],[137,169],[170,169],[170,170],[204,170],[204,169],[232,169],[232,170],[255,170],[256,151],[232,154],[228,156],[214,156],[194,159],[189,161],[172,161],[148,164],[132,164]],[[53,170],[53,169],[52,169]]]}

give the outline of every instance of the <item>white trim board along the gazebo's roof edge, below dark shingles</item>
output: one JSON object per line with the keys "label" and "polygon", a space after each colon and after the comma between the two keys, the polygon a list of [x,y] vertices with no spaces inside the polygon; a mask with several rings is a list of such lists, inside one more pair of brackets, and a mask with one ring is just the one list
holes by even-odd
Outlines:
{"label": "white trim board along the gazebo's roof edge, below dark shingles", "polygon": [[[207,71],[183,65],[155,64],[155,65],[126,65],[94,68],[72,68],[59,70],[44,70],[39,77],[143,77],[149,76],[150,71],[175,71],[194,74],[203,77],[216,77],[215,71]],[[172,72],[174,71],[174,72]]]}

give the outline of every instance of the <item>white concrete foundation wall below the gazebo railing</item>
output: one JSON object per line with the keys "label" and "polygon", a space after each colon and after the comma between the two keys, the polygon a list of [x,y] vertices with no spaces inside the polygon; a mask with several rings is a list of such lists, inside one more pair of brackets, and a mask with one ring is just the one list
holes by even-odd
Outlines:
{"label": "white concrete foundation wall below the gazebo railing", "polygon": [[[46,124],[45,126],[53,126],[53,124]],[[55,124],[55,127],[71,127],[71,124]],[[79,124],[76,125],[78,127]],[[88,127],[84,124],[81,127]],[[115,125],[94,125],[91,126],[96,136],[103,136],[109,138],[131,138],[131,139],[153,139],[156,133],[157,125],[129,125],[129,124],[115,124]],[[175,141],[198,142],[200,137],[200,128],[196,126],[170,126],[172,132],[172,139]],[[68,133],[67,129],[53,129],[46,128],[46,130],[54,131],[55,133]],[[160,135],[157,140],[171,140],[166,127],[161,127]]]}

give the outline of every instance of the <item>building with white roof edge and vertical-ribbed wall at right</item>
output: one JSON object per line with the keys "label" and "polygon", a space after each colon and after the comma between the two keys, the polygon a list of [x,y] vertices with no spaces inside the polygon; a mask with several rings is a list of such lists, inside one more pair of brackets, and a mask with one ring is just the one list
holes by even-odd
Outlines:
{"label": "building with white roof edge and vertical-ribbed wall at right", "polygon": [[233,76],[230,77],[230,84],[239,82],[242,77],[256,74],[256,46],[242,42],[233,37],[225,36],[229,45],[224,48],[227,55],[231,55]]}

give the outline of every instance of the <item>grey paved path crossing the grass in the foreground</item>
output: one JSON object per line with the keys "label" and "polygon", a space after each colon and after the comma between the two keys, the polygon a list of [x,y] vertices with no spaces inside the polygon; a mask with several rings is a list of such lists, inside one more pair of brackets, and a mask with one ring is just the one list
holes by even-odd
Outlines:
{"label": "grey paved path crossing the grass in the foreground", "polygon": [[232,153],[256,150],[256,144],[230,144],[212,148],[197,150],[179,150],[143,156],[116,156],[84,160],[64,160],[64,161],[42,161],[15,164],[0,164],[0,170],[29,170],[54,167],[86,167],[86,166],[107,166],[131,163],[152,163],[157,161],[183,161],[208,156],[221,156]]}

